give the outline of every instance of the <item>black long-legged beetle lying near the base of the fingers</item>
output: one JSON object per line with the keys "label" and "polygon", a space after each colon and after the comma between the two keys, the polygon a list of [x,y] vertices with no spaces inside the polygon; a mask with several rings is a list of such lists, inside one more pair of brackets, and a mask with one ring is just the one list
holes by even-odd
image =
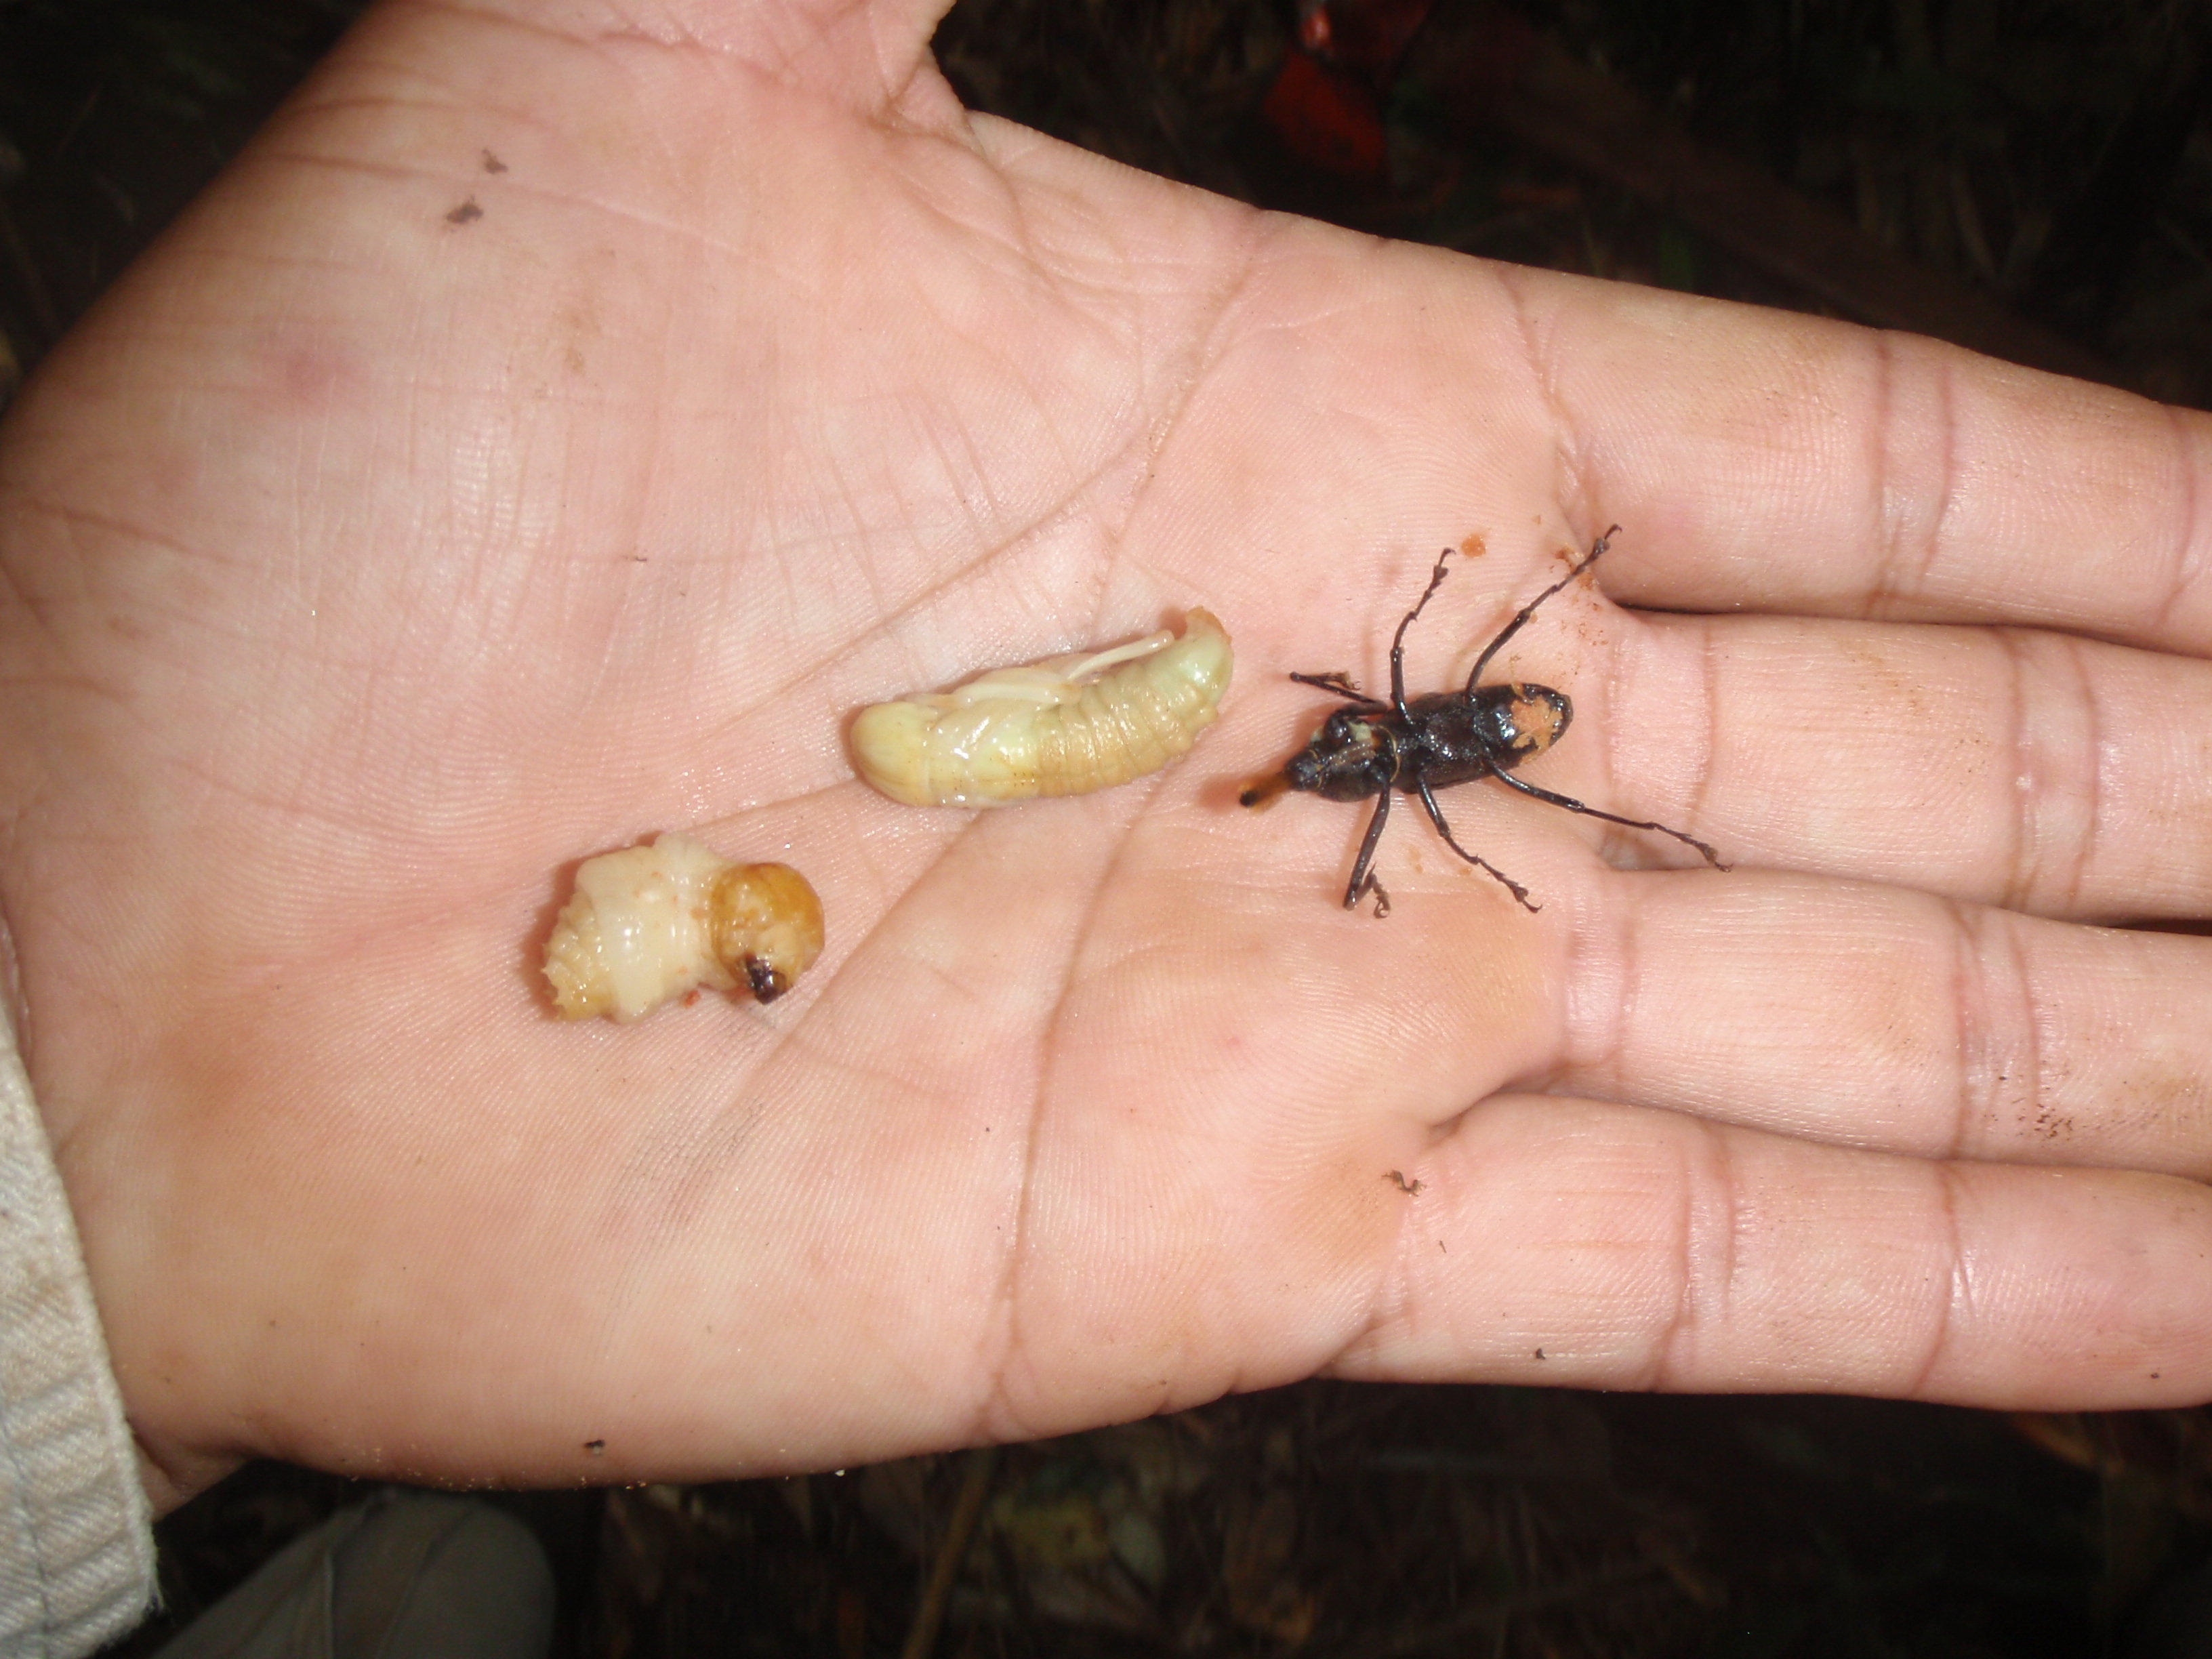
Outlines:
{"label": "black long-legged beetle lying near the base of the fingers", "polygon": [[1345,909],[1358,909],[1360,898],[1374,894],[1376,916],[1389,916],[1389,894],[1383,891],[1383,883],[1374,876],[1374,858],[1383,841],[1383,825],[1389,821],[1389,792],[1396,787],[1420,796],[1429,823],[1436,825],[1436,834],[1444,838],[1447,847],[1475,865],[1475,869],[1486,869],[1495,876],[1520,900],[1522,909],[1535,911],[1537,905],[1528,900],[1528,889],[1498,869],[1498,865],[1462,847],[1451,834],[1451,825],[1444,823],[1444,812],[1436,805],[1438,790],[1449,790],[1453,783],[1473,783],[1475,779],[1498,779],[1509,790],[1520,790],[1533,801],[1546,801],[1555,807],[1579,812],[1586,818],[1604,818],[1628,830],[1657,830],[1661,836],[1674,836],[1686,847],[1697,847],[1714,869],[1728,869],[1721,863],[1721,854],[1697,836],[1668,830],[1663,823],[1599,812],[1573,796],[1513,776],[1513,768],[1559,741],[1566,723],[1575,717],[1575,706],[1566,692],[1555,692],[1551,686],[1531,686],[1526,681],[1504,686],[1475,684],[1482,679],[1482,670],[1489,668],[1491,657],[1522,630],[1522,624],[1535,615],[1535,608],[1597,564],[1619,533],[1619,524],[1608,529],[1566,575],[1513,613],[1513,622],[1500,628],[1498,637],[1475,657],[1475,668],[1467,675],[1467,690],[1429,692],[1411,701],[1405,695],[1405,630],[1413,626],[1422,606],[1444,584],[1444,562],[1451,557],[1449,546],[1438,553],[1436,568],[1429,573],[1429,586],[1422,588],[1420,599],[1405,613],[1398,622],[1398,633],[1391,637],[1387,703],[1378,697],[1367,697],[1340,670],[1332,675],[1292,675],[1301,686],[1332,692],[1343,697],[1345,703],[1321,723],[1321,730],[1307,739],[1303,750],[1290,757],[1279,774],[1250,785],[1239,801],[1248,807],[1261,807],[1285,790],[1318,794],[1323,801],[1376,799],[1376,816],[1367,825],[1367,838],[1360,841],[1358,863],[1352,865],[1352,885],[1345,887]]}

